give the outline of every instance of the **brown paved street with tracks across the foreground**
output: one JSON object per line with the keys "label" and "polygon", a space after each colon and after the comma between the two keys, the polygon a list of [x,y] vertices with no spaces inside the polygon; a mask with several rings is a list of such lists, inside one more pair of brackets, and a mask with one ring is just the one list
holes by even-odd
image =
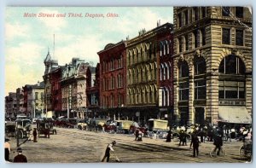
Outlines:
{"label": "brown paved street with tracks across the foreground", "polygon": [[[132,135],[108,134],[90,132],[77,129],[56,128],[57,135],[50,138],[40,137],[38,142],[21,140],[23,154],[28,162],[33,163],[96,163],[102,159],[104,150],[109,142],[115,140],[115,153],[125,163],[243,163],[246,160],[239,156],[242,142],[224,142],[227,155],[211,158],[209,152],[213,148],[212,142],[201,143],[200,156],[192,157],[192,150],[188,146],[178,146],[176,139],[165,142],[163,139],[143,138],[143,142],[134,141]],[[16,140],[10,137],[11,155],[13,159]],[[114,162],[114,159],[111,160]]]}

